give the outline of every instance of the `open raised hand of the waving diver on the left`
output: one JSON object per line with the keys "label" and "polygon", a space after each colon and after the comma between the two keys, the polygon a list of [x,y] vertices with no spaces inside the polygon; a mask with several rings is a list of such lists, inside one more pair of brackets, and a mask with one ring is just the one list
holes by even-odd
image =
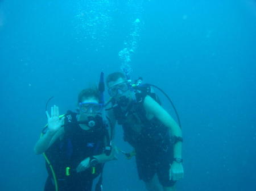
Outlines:
{"label": "open raised hand of the waving diver on the left", "polygon": [[56,132],[59,130],[62,124],[64,124],[64,117],[59,118],[59,107],[54,105],[51,107],[51,116],[49,115],[48,111],[46,111],[46,116],[48,120],[48,129],[49,132]]}

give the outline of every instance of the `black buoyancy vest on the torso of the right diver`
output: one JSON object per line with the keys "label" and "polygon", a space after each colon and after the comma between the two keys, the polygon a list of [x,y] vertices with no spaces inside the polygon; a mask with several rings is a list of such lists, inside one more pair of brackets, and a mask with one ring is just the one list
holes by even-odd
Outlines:
{"label": "black buoyancy vest on the torso of the right diver", "polygon": [[169,138],[169,131],[155,117],[147,119],[146,111],[144,110],[144,99],[146,96],[151,96],[156,102],[160,101],[155,93],[152,93],[150,87],[143,87],[147,89],[140,89],[135,92],[135,98],[123,111],[118,102],[113,107],[113,112],[118,124],[123,127],[123,139],[127,141],[136,150],[160,147],[163,141]]}

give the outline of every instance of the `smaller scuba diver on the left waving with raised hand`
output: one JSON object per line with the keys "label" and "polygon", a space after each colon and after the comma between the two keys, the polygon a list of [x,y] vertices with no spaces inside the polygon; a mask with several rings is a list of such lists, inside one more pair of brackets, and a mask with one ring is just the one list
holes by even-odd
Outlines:
{"label": "smaller scuba diver on the left waving with raised hand", "polygon": [[35,146],[35,153],[46,159],[45,191],[90,191],[94,178],[101,174],[102,181],[104,163],[114,159],[98,89],[82,90],[78,103],[79,113],[59,116],[57,106],[51,107],[51,115],[46,111],[48,124]]}

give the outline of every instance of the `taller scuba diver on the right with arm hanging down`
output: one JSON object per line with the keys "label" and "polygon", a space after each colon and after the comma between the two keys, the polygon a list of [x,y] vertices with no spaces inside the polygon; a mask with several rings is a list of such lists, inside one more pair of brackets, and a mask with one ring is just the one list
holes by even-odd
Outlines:
{"label": "taller scuba diver on the right with arm hanging down", "polygon": [[132,85],[121,72],[109,74],[106,84],[112,97],[108,116],[134,148],[139,178],[147,190],[175,190],[184,173],[181,128],[148,86]]}

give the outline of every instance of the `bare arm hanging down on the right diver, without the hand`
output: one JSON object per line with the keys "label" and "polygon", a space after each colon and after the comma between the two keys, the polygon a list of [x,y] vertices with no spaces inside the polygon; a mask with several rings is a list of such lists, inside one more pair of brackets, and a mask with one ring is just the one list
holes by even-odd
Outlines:
{"label": "bare arm hanging down on the right diver, without the hand", "polygon": [[[153,98],[150,96],[146,96],[144,99],[144,109],[147,113],[153,114],[154,117],[158,118],[160,122],[162,122],[166,127],[170,129],[172,136],[182,137],[181,128],[174,121],[170,114],[167,113],[166,110],[163,109],[162,106],[158,104]],[[174,157],[181,158],[181,148],[182,143],[177,142],[174,144]]]}

